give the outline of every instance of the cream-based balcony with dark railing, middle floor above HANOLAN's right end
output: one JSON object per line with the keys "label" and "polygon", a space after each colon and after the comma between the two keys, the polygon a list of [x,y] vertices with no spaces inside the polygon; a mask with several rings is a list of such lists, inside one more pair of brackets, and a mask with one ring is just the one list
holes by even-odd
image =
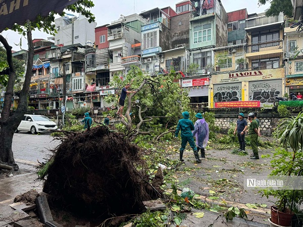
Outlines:
{"label": "cream-based balcony with dark railing, middle floor above HANOLAN's right end", "polygon": [[247,45],[246,57],[283,53],[283,40],[255,42]]}

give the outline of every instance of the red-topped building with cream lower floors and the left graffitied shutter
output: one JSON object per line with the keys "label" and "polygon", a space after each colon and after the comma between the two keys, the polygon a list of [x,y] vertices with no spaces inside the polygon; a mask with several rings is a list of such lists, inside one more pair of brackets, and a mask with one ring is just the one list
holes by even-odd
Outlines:
{"label": "red-topped building with cream lower floors and the left graffitied shutter", "polygon": [[[246,9],[227,13],[228,16],[228,45],[214,48],[215,67],[211,79],[210,104],[215,102],[241,101],[241,82],[226,80],[231,73],[245,71],[248,68],[246,61]],[[223,79],[224,78],[224,79]]]}

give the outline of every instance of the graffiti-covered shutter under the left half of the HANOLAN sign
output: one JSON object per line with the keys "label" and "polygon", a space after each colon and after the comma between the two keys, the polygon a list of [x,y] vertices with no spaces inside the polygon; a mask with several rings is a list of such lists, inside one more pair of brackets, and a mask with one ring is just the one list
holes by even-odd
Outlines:
{"label": "graffiti-covered shutter under the left half of the HANOLAN sign", "polygon": [[215,88],[214,102],[241,100],[240,86],[218,86]]}

